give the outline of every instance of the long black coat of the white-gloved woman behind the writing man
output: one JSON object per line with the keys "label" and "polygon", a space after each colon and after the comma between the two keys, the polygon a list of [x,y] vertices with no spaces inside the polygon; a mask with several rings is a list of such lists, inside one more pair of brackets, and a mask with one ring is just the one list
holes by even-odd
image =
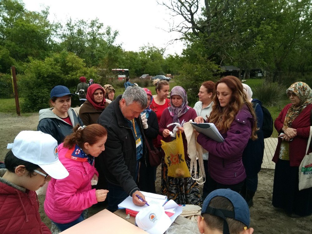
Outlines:
{"label": "long black coat of the white-gloved woman behind the writing man", "polygon": [[[154,150],[153,139],[156,139],[159,132],[159,126],[157,122],[157,115],[154,111],[151,111],[149,118],[147,119],[147,129],[144,129],[144,134],[149,143],[149,147]],[[156,193],[155,190],[155,179],[154,170],[155,167],[151,167],[149,164],[149,153],[148,149],[145,157],[140,160],[140,171],[139,171],[139,188],[144,192]]]}

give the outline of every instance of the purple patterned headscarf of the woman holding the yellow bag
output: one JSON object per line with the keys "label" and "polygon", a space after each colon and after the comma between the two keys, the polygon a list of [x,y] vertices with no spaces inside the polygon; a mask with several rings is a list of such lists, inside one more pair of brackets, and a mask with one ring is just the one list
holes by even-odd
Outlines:
{"label": "purple patterned headscarf of the woman holding the yellow bag", "polygon": [[[179,95],[182,97],[182,105],[179,107],[175,107],[172,103],[171,97],[173,95]],[[168,107],[170,116],[173,117],[172,123],[179,123],[179,117],[183,114],[185,114],[190,107],[188,106],[188,95],[186,94],[186,91],[181,86],[175,86],[171,90],[170,93],[170,104],[171,106]]]}

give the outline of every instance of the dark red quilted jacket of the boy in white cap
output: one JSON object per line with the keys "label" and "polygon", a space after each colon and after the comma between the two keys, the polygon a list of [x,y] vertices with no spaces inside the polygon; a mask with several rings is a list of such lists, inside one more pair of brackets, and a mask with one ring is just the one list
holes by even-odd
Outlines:
{"label": "dark red quilted jacket of the boy in white cap", "polygon": [[3,179],[5,171],[0,169],[0,233],[51,234],[41,222],[36,192]]}

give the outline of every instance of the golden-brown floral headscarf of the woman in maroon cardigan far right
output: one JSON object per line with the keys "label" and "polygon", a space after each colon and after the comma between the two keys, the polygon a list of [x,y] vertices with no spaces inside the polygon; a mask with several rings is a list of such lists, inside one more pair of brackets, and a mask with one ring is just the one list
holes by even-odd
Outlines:
{"label": "golden-brown floral headscarf of the woman in maroon cardigan far right", "polygon": [[291,127],[291,123],[307,105],[312,104],[312,90],[306,83],[296,82],[290,85],[286,94],[288,95],[290,91],[299,97],[300,102],[298,106],[291,105],[288,109],[284,120],[285,129]]}

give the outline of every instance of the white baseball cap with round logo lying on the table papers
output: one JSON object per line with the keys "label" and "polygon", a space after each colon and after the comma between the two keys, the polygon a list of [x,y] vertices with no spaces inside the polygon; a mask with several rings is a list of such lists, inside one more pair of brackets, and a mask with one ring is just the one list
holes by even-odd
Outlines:
{"label": "white baseball cap with round logo lying on the table papers", "polygon": [[161,205],[149,205],[135,217],[138,227],[149,234],[163,234],[172,224]]}

